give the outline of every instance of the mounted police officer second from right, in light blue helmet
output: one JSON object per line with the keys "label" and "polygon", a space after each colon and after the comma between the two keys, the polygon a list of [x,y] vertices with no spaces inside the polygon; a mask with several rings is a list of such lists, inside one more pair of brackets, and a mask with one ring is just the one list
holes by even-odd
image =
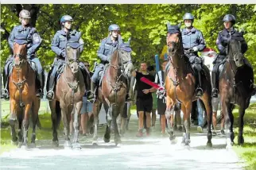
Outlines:
{"label": "mounted police officer second from right, in light blue helmet", "polygon": [[184,53],[188,56],[189,62],[193,64],[193,68],[197,71],[198,76],[198,85],[199,87],[196,88],[196,96],[203,95],[202,90],[202,79],[201,79],[201,70],[202,70],[202,60],[198,56],[197,52],[201,52],[206,47],[206,43],[204,41],[203,33],[195,29],[193,27],[194,16],[190,13],[186,13],[183,16],[184,25],[186,26],[185,29],[182,30],[182,42]]}

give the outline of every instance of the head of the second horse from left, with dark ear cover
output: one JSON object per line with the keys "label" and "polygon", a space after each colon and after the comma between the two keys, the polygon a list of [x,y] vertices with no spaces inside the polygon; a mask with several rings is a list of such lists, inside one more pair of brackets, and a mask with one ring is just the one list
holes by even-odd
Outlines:
{"label": "head of the second horse from left, with dark ear cover", "polygon": [[80,59],[80,54],[81,54],[81,49],[80,49],[80,36],[77,37],[71,37],[68,40],[68,43],[66,45],[66,64],[68,67],[71,69],[73,74],[76,74],[76,72],[79,71],[79,59]]}

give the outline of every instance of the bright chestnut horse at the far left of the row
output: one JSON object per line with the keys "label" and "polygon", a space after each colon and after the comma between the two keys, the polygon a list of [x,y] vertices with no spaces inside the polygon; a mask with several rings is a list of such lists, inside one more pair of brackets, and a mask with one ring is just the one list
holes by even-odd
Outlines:
{"label": "bright chestnut horse at the far left of the row", "polygon": [[10,91],[10,127],[12,141],[17,143],[15,121],[18,121],[19,147],[28,147],[29,112],[33,118],[31,145],[35,147],[36,126],[40,99],[37,98],[36,72],[27,60],[26,45],[14,42],[14,66],[9,79]]}

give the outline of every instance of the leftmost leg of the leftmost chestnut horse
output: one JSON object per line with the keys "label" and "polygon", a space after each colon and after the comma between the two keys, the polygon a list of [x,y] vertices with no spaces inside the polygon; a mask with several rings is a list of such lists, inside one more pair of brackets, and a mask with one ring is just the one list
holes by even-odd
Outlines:
{"label": "leftmost leg of the leftmost chestnut horse", "polygon": [[[12,144],[17,145],[17,136],[16,136],[16,130],[15,130],[15,121],[16,121],[16,115],[15,115],[15,106],[16,102],[14,99],[10,100],[10,128],[11,128],[11,135],[12,135]],[[17,110],[16,110],[17,113]],[[22,114],[21,114],[22,115]]]}

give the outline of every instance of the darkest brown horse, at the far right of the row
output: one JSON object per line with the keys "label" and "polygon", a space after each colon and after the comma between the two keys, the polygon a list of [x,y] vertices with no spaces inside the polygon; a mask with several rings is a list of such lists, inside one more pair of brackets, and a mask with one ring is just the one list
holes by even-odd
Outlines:
{"label": "darkest brown horse, at the far right of the row", "polygon": [[252,70],[244,64],[245,57],[241,53],[239,40],[231,39],[228,44],[227,61],[219,76],[219,95],[225,118],[226,144],[227,149],[234,144],[235,134],[233,132],[234,116],[232,110],[235,104],[239,105],[239,137],[238,144],[242,145],[244,139],[243,116],[250,104],[251,91],[250,79],[253,76]]}

